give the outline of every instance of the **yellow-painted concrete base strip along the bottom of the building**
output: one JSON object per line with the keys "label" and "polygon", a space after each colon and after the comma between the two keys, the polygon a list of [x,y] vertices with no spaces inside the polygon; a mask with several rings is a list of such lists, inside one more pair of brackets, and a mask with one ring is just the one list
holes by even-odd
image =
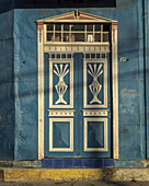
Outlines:
{"label": "yellow-painted concrete base strip along the bottom of the building", "polygon": [[0,168],[0,181],[149,181],[149,168]]}

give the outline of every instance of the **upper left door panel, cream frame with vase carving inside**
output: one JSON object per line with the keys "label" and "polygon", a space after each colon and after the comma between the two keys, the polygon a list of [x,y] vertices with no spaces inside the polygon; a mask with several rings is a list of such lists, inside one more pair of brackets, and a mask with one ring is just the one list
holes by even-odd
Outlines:
{"label": "upper left door panel, cream frame with vase carving inside", "polygon": [[49,108],[73,108],[73,61],[49,60]]}

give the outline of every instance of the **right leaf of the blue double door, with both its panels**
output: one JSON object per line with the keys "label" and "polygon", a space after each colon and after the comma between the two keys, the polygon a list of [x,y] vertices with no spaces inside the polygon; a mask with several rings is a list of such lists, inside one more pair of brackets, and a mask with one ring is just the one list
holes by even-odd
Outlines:
{"label": "right leaf of the blue double door, with both its panels", "polygon": [[[88,58],[87,58],[88,57]],[[111,156],[110,66],[106,55],[84,55],[83,105],[80,125],[80,154],[90,158]],[[83,147],[83,148],[82,148]]]}

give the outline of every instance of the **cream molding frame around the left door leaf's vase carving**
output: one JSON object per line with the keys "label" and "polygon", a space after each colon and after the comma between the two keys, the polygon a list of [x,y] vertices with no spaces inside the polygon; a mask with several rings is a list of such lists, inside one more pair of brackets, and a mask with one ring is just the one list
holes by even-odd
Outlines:
{"label": "cream molding frame around the left door leaf's vase carving", "polygon": [[[70,65],[70,104],[56,105],[53,104],[53,63],[69,63]],[[49,58],[49,108],[73,108],[73,59],[51,59]]]}

